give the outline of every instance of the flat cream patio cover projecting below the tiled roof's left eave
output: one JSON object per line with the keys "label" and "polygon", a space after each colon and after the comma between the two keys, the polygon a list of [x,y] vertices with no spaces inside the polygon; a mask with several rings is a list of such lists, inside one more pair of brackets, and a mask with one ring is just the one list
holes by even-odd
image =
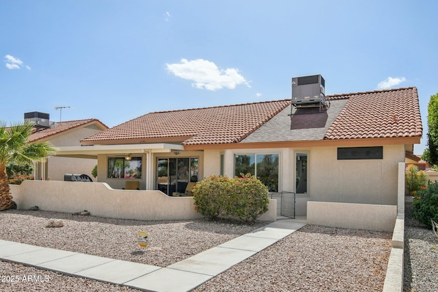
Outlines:
{"label": "flat cream patio cover projecting below the tiled roof's left eave", "polygon": [[146,152],[166,153],[172,152],[173,150],[184,150],[184,147],[178,144],[166,143],[66,146],[57,147],[54,156],[97,159],[97,155],[99,154],[132,155]]}

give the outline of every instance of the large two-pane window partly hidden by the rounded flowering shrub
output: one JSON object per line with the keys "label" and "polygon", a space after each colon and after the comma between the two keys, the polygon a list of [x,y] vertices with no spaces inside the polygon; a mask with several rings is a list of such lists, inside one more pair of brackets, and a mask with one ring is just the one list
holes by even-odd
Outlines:
{"label": "large two-pane window partly hidden by the rounded flowering shrub", "polygon": [[278,154],[234,155],[234,174],[253,174],[268,187],[269,191],[279,191]]}

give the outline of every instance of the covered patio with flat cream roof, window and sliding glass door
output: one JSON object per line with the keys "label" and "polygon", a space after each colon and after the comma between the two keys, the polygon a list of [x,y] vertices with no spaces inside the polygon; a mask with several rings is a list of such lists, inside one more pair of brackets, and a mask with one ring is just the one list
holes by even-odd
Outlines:
{"label": "covered patio with flat cream roof, window and sliding glass door", "polygon": [[[57,157],[97,159],[97,181],[123,189],[138,181],[140,189],[159,189],[172,196],[198,181],[202,151],[184,151],[181,144],[118,144],[58,147]],[[74,170],[72,170],[74,172]]]}

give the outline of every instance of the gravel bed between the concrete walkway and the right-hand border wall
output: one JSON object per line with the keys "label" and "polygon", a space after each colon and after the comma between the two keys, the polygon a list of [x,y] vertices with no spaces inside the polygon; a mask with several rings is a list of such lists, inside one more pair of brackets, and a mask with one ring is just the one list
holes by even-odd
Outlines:
{"label": "gravel bed between the concrete walkway and the right-hand border wall", "polygon": [[194,291],[382,291],[390,239],[307,225]]}

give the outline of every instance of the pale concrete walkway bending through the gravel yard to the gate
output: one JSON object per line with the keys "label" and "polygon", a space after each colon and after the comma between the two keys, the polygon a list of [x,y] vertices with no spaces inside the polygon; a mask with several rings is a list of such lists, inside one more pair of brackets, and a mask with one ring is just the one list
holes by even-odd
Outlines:
{"label": "pale concrete walkway bending through the gravel yard to the gate", "polygon": [[0,258],[146,291],[190,291],[305,225],[302,220],[277,220],[168,267],[5,240],[0,240]]}

